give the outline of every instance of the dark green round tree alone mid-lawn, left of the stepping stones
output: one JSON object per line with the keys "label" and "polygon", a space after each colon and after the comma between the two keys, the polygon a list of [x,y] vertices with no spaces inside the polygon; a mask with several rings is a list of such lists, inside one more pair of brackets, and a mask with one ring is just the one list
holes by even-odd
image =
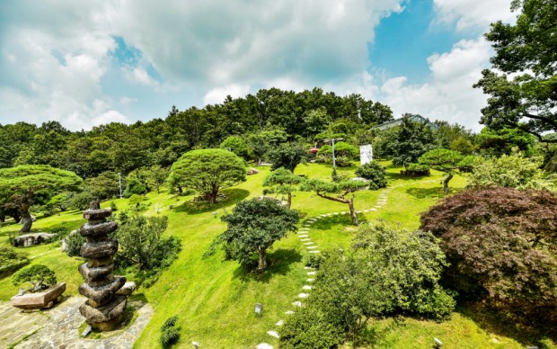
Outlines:
{"label": "dark green round tree alone mid-lawn, left of the stepping stones", "polygon": [[217,244],[223,244],[226,255],[243,265],[258,255],[257,270],[262,272],[267,268],[267,250],[288,231],[296,230],[300,215],[278,200],[255,198],[238,202],[232,213],[221,219],[228,227],[217,237]]}

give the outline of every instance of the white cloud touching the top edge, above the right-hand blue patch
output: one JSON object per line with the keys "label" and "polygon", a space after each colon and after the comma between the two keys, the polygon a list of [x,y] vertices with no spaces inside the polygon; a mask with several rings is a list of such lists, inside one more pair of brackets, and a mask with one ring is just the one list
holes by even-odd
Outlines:
{"label": "white cloud touching the top edge, above the right-hand blue patch", "polygon": [[514,22],[511,0],[434,0],[438,22],[455,23],[458,31],[486,31],[490,23]]}

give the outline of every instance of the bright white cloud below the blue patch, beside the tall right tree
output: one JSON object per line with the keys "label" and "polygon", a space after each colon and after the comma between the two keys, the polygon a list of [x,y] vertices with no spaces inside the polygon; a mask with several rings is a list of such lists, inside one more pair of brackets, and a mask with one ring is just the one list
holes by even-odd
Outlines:
{"label": "bright white cloud below the blue patch, beside the tall right tree", "polygon": [[486,96],[472,85],[491,55],[491,46],[483,39],[461,40],[450,52],[428,58],[431,81],[407,85],[404,76],[394,77],[380,86],[383,102],[396,116],[403,112],[418,113],[432,120],[458,122],[479,130],[480,110]]}

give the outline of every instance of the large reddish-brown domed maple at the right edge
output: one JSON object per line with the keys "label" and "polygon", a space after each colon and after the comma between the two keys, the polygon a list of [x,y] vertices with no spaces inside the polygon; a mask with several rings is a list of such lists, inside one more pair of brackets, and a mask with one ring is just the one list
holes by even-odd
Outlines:
{"label": "large reddish-brown domed maple at the right edge", "polygon": [[555,222],[554,193],[511,188],[460,192],[421,216],[421,228],[441,238],[446,284],[544,318],[557,309]]}

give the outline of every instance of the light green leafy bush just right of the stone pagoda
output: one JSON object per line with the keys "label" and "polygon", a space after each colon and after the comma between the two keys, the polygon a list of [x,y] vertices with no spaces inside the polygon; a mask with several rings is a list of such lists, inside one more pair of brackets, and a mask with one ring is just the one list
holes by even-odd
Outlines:
{"label": "light green leafy bush just right of the stone pagoda", "polygon": [[161,246],[167,225],[168,219],[165,216],[129,216],[116,233],[121,246],[119,256],[137,264],[140,270],[150,268],[154,262],[153,257]]}

